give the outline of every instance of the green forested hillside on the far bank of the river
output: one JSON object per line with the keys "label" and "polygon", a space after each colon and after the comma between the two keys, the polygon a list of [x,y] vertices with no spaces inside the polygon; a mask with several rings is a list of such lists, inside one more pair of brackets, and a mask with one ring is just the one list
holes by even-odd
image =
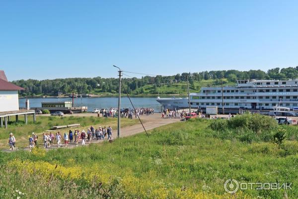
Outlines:
{"label": "green forested hillside on the far bank of the river", "polygon": [[[131,75],[131,74],[129,74]],[[128,77],[128,76],[124,76]],[[132,95],[171,95],[186,93],[187,77],[190,82],[191,92],[197,92],[202,86],[216,86],[221,84],[232,85],[237,79],[278,79],[298,78],[298,66],[296,68],[274,68],[267,72],[262,70],[249,71],[204,71],[199,73],[182,73],[173,76],[144,76],[142,78],[123,78],[123,84],[127,92]],[[55,80],[17,80],[12,82],[23,87],[21,96],[61,94],[97,94],[113,95],[117,93],[119,80],[117,78],[66,78]],[[122,90],[124,93],[124,90]]]}

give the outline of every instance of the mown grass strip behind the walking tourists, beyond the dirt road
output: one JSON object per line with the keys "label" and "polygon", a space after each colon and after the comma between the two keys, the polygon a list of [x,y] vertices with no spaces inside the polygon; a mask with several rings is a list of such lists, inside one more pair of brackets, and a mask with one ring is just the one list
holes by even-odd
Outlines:
{"label": "mown grass strip behind the walking tourists, beyond the dirt road", "polygon": [[[69,116],[69,117],[58,117],[58,116],[37,116],[36,122],[33,123],[33,116],[28,115],[28,124],[25,125],[24,118],[19,117],[19,122],[15,122],[15,117],[10,117],[10,123],[8,128],[0,128],[0,149],[9,148],[7,145],[9,133],[12,132],[17,141],[17,147],[27,147],[28,146],[28,135],[31,135],[32,132],[38,134],[39,141],[42,140],[42,133],[48,129],[51,129],[52,126],[67,125],[67,124],[76,124],[79,123],[79,127],[64,128],[60,129],[60,132],[68,132],[70,129],[84,129],[87,130],[90,125],[95,125],[95,127],[101,126],[111,126],[114,130],[117,129],[117,118],[102,118],[102,117],[80,117],[80,116]],[[133,125],[137,123],[138,120],[135,119],[122,119],[122,127]],[[53,133],[56,133],[57,130],[53,130]]]}

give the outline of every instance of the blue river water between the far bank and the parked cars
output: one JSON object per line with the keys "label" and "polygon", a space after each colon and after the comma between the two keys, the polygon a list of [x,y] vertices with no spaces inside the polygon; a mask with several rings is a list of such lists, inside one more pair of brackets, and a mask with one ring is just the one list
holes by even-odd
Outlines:
{"label": "blue river water between the far bank and the parked cars", "polygon": [[[160,103],[158,103],[156,98],[131,98],[135,108],[137,107],[152,107],[154,111],[160,111]],[[71,98],[37,98],[28,99],[30,107],[41,107],[42,101],[72,101]],[[19,99],[19,106],[25,107],[26,99]],[[115,97],[98,97],[98,98],[74,98],[74,106],[87,106],[88,111],[92,111],[93,108],[110,108],[118,107],[118,98]],[[122,108],[133,108],[129,99],[127,97],[121,98]]]}

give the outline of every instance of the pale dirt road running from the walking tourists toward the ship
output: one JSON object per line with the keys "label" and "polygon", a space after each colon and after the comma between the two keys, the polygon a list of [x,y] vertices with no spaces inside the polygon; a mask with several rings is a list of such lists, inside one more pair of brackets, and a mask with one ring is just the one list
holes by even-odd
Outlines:
{"label": "pale dirt road running from the walking tourists toward the ship", "polygon": [[[85,116],[85,115],[80,115],[80,116]],[[181,120],[179,118],[161,119],[160,113],[155,113],[153,115],[141,115],[140,118],[141,118],[141,120],[145,126],[145,129],[147,131],[149,131],[153,128],[157,128],[159,126],[166,125],[166,124],[179,122]],[[133,118],[133,119],[138,119],[138,118]],[[135,134],[143,133],[143,132],[145,133],[142,124],[138,123],[138,124],[134,124],[132,126],[127,126],[127,127],[121,128],[120,137],[127,137],[127,136],[131,136],[131,135],[135,135]],[[117,130],[112,131],[112,136],[114,139],[117,138]],[[92,140],[91,142],[86,141],[86,145],[88,145],[90,143],[100,144],[102,142],[103,142],[102,140]],[[62,143],[63,144],[61,146],[65,147],[65,144],[63,141],[62,141]],[[41,141],[39,142],[39,145],[42,146]],[[82,146],[81,141],[79,142],[78,146]],[[68,148],[74,148],[74,147],[76,147],[76,145],[74,143],[69,143]],[[54,144],[51,148],[47,148],[47,150],[56,149],[56,148],[57,148],[57,144]],[[27,147],[26,148],[17,148],[17,150],[29,150],[29,147],[28,148]],[[2,151],[11,152],[9,149],[5,149]]]}

